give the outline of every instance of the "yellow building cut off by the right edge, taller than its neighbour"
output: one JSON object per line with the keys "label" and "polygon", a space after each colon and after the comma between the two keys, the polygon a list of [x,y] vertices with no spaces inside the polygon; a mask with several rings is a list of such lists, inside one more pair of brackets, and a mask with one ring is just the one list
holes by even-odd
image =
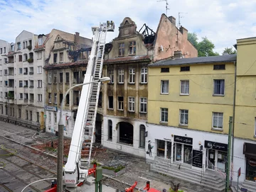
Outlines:
{"label": "yellow building cut off by the right edge, taller than its neighbour", "polygon": [[240,181],[256,181],[256,38],[239,39],[236,46],[234,171],[241,167]]}

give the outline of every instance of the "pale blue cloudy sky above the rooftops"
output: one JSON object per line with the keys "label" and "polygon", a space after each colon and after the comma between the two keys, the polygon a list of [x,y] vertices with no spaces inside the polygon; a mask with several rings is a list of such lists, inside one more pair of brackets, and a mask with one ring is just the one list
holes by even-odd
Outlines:
{"label": "pale blue cloudy sky above the rooftops", "polygon": [[[167,16],[174,16],[178,24],[180,12],[181,26],[199,40],[207,37],[220,54],[237,39],[256,36],[256,0],[167,2]],[[22,30],[39,35],[53,28],[92,38],[92,26],[112,20],[116,28],[107,33],[110,42],[125,17],[132,18],[138,31],[144,23],[156,31],[162,13],[166,13],[165,0],[0,0],[0,39],[14,43]]]}

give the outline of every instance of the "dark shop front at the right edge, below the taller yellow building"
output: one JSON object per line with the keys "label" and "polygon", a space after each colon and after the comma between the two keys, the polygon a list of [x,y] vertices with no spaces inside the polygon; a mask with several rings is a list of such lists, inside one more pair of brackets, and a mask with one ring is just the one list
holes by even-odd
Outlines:
{"label": "dark shop front at the right edge, below the taller yellow building", "polygon": [[245,179],[256,181],[256,145],[245,142],[243,147],[246,160]]}

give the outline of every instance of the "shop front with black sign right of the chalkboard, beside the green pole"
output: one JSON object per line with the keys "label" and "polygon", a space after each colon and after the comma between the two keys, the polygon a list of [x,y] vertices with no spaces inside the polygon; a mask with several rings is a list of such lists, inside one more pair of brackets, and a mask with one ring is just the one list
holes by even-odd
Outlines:
{"label": "shop front with black sign right of the chalkboard, beside the green pole", "polygon": [[225,173],[228,161],[228,145],[220,142],[205,140],[206,169]]}

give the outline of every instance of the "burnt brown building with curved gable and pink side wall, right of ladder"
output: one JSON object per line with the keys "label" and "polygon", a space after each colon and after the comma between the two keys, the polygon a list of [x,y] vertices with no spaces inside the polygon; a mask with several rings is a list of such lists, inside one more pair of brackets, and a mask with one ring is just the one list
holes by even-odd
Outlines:
{"label": "burnt brown building with curved gable and pink side wall, right of ladder", "polygon": [[197,57],[187,30],[176,28],[175,18],[163,14],[156,33],[146,24],[137,32],[134,21],[124,18],[118,37],[105,48],[103,74],[111,81],[103,89],[102,145],[145,157],[148,64],[173,57],[179,49],[189,52],[181,57]]}

